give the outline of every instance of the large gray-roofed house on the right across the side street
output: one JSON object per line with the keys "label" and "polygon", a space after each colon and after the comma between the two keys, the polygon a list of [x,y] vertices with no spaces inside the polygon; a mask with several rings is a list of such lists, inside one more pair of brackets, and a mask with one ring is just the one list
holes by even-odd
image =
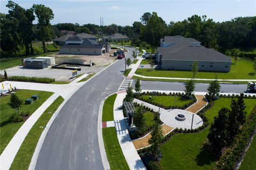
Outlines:
{"label": "large gray-roofed house on the right across the side street", "polygon": [[206,48],[193,38],[165,36],[157,48],[159,69],[191,70],[193,62],[198,62],[199,71],[229,72],[231,58],[212,48]]}

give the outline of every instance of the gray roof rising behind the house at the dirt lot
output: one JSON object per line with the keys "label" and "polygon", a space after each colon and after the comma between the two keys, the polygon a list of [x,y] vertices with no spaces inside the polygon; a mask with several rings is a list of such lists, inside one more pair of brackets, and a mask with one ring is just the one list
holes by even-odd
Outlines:
{"label": "gray roof rising behind the house at the dirt lot", "polygon": [[79,33],[77,35],[67,34],[67,35],[63,35],[61,37],[55,38],[55,39],[53,39],[53,43],[55,43],[57,45],[65,45],[68,38],[72,38],[72,37],[81,37],[83,39],[84,38],[89,38],[89,39],[92,39],[94,41],[97,41],[97,37],[95,37],[94,35],[86,34],[86,33]]}

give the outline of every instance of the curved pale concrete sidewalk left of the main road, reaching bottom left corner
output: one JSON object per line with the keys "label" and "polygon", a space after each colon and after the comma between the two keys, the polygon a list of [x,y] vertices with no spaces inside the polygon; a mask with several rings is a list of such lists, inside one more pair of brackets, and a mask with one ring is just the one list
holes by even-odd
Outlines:
{"label": "curved pale concrete sidewalk left of the main road, reaching bottom left corner", "polygon": [[11,167],[12,162],[15,158],[15,155],[19,151],[19,148],[22,144],[22,142],[25,140],[25,137],[29,133],[30,129],[33,127],[33,125],[36,123],[36,121],[41,117],[43,112],[52,104],[52,102],[57,99],[59,94],[54,93],[52,96],[50,96],[49,99],[47,99],[41,107],[39,107],[30,117],[27,119],[27,121],[19,128],[18,132],[15,133],[15,135],[12,137],[12,140],[9,142],[9,144],[4,149],[3,153],[0,156],[1,160],[1,170],[7,170]]}

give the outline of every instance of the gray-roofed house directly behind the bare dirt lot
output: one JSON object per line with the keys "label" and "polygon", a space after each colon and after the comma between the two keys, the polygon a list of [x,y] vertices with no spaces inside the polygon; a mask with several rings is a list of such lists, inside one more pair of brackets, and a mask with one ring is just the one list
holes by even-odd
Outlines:
{"label": "gray-roofed house directly behind the bare dirt lot", "polygon": [[104,43],[75,36],[68,38],[66,44],[60,47],[60,54],[102,55],[108,52],[108,48]]}

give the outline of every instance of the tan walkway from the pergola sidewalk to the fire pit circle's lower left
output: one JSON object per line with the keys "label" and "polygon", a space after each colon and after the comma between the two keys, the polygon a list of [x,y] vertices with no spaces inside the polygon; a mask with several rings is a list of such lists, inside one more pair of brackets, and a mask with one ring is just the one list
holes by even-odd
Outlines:
{"label": "tan walkway from the pergola sidewalk to the fire pit circle's lower left", "polygon": [[[166,124],[162,125],[162,131],[163,131],[163,136],[169,134],[170,132],[173,131],[173,127],[170,127]],[[147,135],[133,140],[132,143],[134,144],[134,147],[138,150],[138,149],[142,149],[142,148],[146,148],[146,147],[150,147],[150,144],[148,143],[148,140],[151,137],[151,132],[149,132]]]}

